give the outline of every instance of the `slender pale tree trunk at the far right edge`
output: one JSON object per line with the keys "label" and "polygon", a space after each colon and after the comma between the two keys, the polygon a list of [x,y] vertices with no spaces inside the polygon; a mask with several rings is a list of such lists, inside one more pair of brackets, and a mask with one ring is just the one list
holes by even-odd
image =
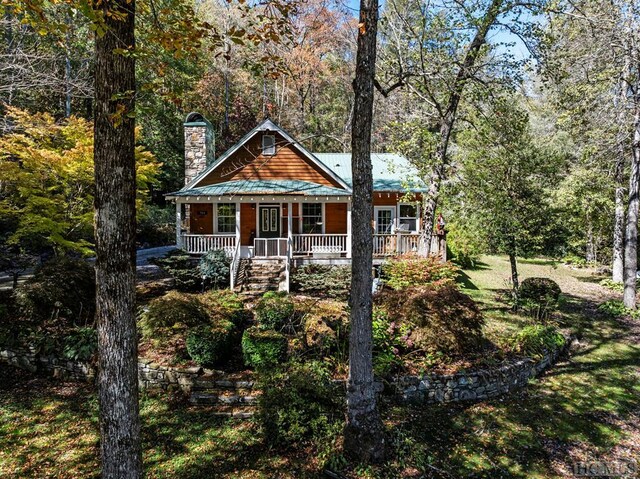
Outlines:
{"label": "slender pale tree trunk at the far right edge", "polygon": [[[639,102],[636,99],[636,102]],[[638,273],[638,193],[640,184],[640,105],[636,106],[633,124],[631,174],[629,175],[629,205],[624,244],[624,305],[636,308],[636,275]]]}

